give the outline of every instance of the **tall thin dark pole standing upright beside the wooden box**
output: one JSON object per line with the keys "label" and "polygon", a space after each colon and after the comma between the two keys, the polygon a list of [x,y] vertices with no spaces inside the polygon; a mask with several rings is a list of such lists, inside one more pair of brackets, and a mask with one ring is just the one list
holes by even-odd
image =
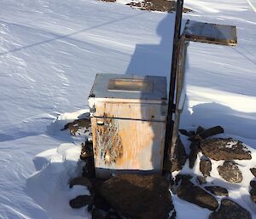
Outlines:
{"label": "tall thin dark pole standing upright beside the wooden box", "polygon": [[183,0],[177,0],[176,3],[176,16],[175,16],[175,29],[173,36],[173,47],[172,47],[172,71],[170,78],[170,87],[169,87],[169,102],[168,102],[168,111],[166,118],[166,140],[165,140],[165,154],[164,159],[170,159],[171,152],[171,142],[172,142],[172,130],[173,130],[173,121],[172,115],[175,110],[174,97],[175,97],[175,84],[176,84],[176,72],[177,72],[177,46],[180,39],[180,29],[181,21],[183,14]]}

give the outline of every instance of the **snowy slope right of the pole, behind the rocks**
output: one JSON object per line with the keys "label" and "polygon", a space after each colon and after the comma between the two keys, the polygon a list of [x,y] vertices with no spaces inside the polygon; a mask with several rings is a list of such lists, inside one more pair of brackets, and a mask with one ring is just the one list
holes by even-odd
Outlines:
{"label": "snowy slope right of the pole, behind the rocks", "polygon": [[[190,43],[187,89],[194,113],[184,118],[195,125],[222,124],[230,134],[255,139],[255,12],[246,1],[188,1],[187,7],[196,11],[189,19],[237,26],[238,45]],[[210,109],[212,117],[204,118]]]}

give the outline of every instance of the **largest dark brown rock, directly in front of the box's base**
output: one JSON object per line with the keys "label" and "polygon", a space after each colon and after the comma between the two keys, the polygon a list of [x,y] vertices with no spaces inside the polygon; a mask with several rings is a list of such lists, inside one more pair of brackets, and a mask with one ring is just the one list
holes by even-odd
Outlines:
{"label": "largest dark brown rock, directly in front of the box's base", "polygon": [[114,210],[133,219],[164,219],[174,210],[169,183],[163,176],[114,176],[100,191]]}

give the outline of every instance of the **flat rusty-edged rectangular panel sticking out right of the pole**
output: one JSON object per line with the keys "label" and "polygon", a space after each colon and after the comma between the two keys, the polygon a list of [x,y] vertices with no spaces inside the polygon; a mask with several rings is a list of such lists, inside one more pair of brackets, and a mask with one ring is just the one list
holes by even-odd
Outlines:
{"label": "flat rusty-edged rectangular panel sticking out right of the pole", "polygon": [[236,46],[236,26],[218,25],[187,20],[183,35],[186,40]]}

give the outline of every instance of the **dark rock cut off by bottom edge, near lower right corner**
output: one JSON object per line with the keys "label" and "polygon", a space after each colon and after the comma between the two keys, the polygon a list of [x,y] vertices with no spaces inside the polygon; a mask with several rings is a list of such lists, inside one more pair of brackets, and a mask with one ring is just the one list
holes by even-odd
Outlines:
{"label": "dark rock cut off by bottom edge, near lower right corner", "polygon": [[218,211],[212,212],[209,219],[251,219],[249,211],[230,199],[222,199]]}

